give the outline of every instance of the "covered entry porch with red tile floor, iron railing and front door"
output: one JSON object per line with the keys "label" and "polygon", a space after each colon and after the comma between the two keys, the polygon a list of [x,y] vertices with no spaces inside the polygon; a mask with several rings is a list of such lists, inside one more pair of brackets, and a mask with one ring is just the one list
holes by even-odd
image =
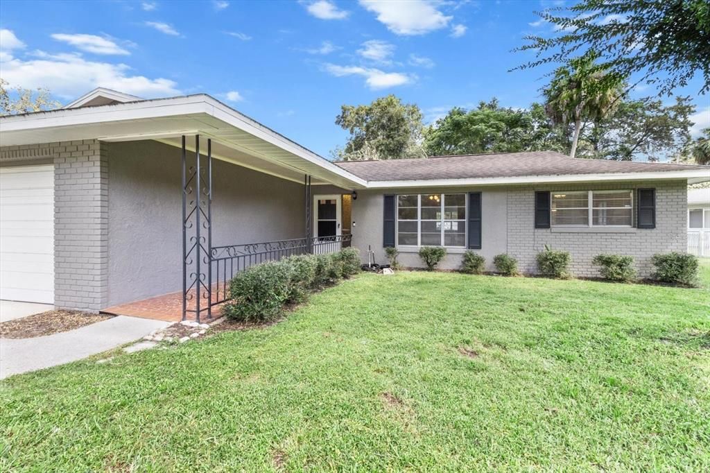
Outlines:
{"label": "covered entry porch with red tile floor, iron railing and front door", "polygon": [[[209,321],[220,316],[239,271],[350,244],[350,189],[307,173],[296,180],[292,170],[246,167],[234,154],[226,159],[222,141],[200,134],[108,146],[109,228],[116,237],[109,240],[103,312]],[[131,208],[138,214],[126,212]],[[124,231],[127,219],[131,232]],[[131,254],[138,227],[156,238],[142,239],[145,251]],[[143,297],[133,297],[138,293]]]}

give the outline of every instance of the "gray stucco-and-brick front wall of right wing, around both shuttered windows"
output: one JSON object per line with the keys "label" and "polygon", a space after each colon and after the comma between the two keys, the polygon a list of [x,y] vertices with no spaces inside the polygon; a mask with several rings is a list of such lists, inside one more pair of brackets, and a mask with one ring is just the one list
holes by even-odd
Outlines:
{"label": "gray stucco-and-brick front wall of right wing, around both shuttered windows", "polygon": [[[655,229],[535,229],[535,190],[603,190],[656,188]],[[575,276],[599,276],[599,268],[591,263],[596,254],[616,253],[634,256],[639,276],[650,276],[653,254],[668,251],[686,251],[687,246],[687,185],[685,181],[659,181],[644,183],[577,184],[544,187],[485,187],[459,190],[366,190],[359,191],[353,203],[354,246],[366,261],[368,245],[372,246],[378,263],[386,263],[382,247],[383,195],[425,192],[482,192],[482,248],[474,250],[486,258],[486,268],[493,271],[493,256],[508,253],[518,259],[523,273],[537,273],[535,255],[545,244],[554,249],[569,251],[572,272]],[[462,250],[449,249],[446,259],[439,264],[442,269],[458,269]],[[421,268],[422,262],[415,252],[400,249],[400,262],[405,266]]]}

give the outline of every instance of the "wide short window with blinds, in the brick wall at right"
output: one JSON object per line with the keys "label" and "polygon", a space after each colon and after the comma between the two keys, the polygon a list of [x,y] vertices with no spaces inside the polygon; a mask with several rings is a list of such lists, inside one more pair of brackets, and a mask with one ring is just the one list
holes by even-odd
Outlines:
{"label": "wide short window with blinds, in the brick wall at right", "polygon": [[630,190],[552,192],[553,227],[630,227]]}

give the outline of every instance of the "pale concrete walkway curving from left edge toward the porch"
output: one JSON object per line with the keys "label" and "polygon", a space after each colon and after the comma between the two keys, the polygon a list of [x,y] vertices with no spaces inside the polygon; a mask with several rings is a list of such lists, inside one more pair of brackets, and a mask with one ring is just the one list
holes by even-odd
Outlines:
{"label": "pale concrete walkway curving from left edge toward the porch", "polygon": [[46,337],[0,339],[0,379],[105,352],[168,325],[170,322],[119,315]]}

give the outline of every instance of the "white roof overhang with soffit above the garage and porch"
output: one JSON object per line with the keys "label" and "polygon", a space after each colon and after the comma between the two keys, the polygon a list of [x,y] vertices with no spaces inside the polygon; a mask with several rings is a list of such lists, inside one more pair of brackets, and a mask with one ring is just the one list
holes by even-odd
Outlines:
{"label": "white roof overhang with soffit above the garage and porch", "polygon": [[[194,151],[194,136],[212,138],[213,156],[246,168],[302,183],[333,184],[346,189],[366,187],[366,180],[290,141],[248,116],[206,94],[143,100],[97,107],[4,116],[2,146],[56,141],[156,140]],[[206,139],[202,141],[206,150]]]}

